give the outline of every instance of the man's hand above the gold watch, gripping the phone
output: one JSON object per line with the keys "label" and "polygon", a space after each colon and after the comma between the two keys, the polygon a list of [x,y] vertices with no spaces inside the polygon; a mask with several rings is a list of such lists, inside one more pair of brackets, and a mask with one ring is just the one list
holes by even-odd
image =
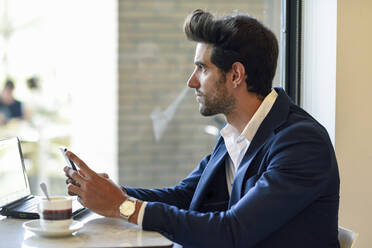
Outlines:
{"label": "man's hand above the gold watch, gripping the phone", "polygon": [[90,210],[107,217],[120,217],[119,206],[127,198],[121,188],[106,173],[97,174],[74,153],[66,155],[80,168],[74,171],[66,166],[69,195],[77,195],[80,203]]}

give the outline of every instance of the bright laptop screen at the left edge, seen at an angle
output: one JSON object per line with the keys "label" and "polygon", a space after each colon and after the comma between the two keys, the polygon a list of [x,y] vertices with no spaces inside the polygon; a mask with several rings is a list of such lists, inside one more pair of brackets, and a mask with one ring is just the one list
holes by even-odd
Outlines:
{"label": "bright laptop screen at the left edge, seen at an angle", "polygon": [[30,193],[18,138],[0,140],[0,206]]}

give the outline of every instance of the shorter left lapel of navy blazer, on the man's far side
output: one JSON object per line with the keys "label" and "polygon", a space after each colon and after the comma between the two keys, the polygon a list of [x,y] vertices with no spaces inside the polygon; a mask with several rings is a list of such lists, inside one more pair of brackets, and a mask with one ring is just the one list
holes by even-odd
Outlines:
{"label": "shorter left lapel of navy blazer, on the man's far side", "polygon": [[212,154],[203,174],[200,177],[198,186],[196,187],[194,196],[190,204],[190,210],[197,210],[200,201],[203,198],[205,190],[208,187],[208,183],[211,181],[216,171],[225,164],[224,162],[226,155],[227,150],[225,143],[221,142],[216,151]]}

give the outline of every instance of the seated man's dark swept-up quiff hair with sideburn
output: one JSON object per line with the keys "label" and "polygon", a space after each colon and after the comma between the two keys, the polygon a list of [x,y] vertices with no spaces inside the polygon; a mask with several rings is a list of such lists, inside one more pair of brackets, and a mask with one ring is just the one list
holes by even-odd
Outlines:
{"label": "seated man's dark swept-up quiff hair with sideburn", "polygon": [[216,19],[211,13],[194,10],[185,20],[189,40],[211,44],[211,62],[222,72],[235,62],[244,65],[249,92],[270,93],[278,59],[278,41],[269,29],[248,15]]}

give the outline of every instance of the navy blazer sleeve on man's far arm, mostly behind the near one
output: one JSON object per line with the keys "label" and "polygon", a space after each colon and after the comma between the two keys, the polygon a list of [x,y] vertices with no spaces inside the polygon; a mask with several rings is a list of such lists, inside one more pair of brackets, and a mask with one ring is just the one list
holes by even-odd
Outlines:
{"label": "navy blazer sleeve on man's far arm, mostly behind the near one", "polygon": [[210,155],[202,159],[199,165],[178,185],[162,189],[122,188],[128,195],[147,202],[162,202],[176,206],[180,209],[188,209],[200,176],[208,164]]}

